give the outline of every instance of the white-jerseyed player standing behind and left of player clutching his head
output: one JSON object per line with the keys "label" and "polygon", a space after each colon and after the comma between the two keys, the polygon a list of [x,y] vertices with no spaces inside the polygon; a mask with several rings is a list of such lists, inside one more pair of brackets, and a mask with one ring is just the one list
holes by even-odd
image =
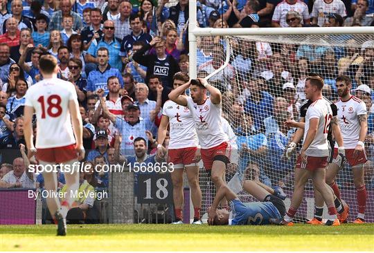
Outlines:
{"label": "white-jerseyed player standing behind and left of player clutching his head", "polygon": [[[177,88],[188,82],[188,75],[177,73],[173,77],[173,88]],[[184,93],[186,95],[186,93]],[[202,207],[202,191],[199,185],[200,151],[197,149],[197,133],[193,115],[186,106],[168,100],[163,104],[162,118],[157,133],[157,156],[165,156],[162,143],[165,140],[166,131],[170,126],[168,162],[172,162],[175,170],[171,173],[173,186],[173,199],[175,206],[175,222],[173,224],[183,224],[182,205],[184,203],[183,193],[183,171],[186,169],[188,184],[191,188],[191,200],[193,203],[194,216],[193,224],[200,225],[200,209]]]}

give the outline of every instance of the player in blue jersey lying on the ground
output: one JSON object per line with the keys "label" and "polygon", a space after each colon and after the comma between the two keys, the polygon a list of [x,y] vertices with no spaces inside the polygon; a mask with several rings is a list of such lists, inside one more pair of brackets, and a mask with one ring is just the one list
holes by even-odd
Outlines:
{"label": "player in blue jersey lying on the ground", "polygon": [[[243,189],[262,202],[244,204],[229,187],[222,185],[208,209],[209,225],[268,225],[285,215],[285,203],[274,196],[274,189],[253,180],[245,180]],[[231,212],[217,209],[222,198],[229,201]]]}

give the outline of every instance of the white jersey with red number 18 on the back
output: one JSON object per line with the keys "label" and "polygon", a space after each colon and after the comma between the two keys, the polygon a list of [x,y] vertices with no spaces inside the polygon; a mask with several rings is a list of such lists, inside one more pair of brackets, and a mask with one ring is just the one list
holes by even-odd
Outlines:
{"label": "white jersey with red number 18 on the back", "polygon": [[28,88],[25,105],[33,107],[37,115],[37,149],[75,143],[69,112],[70,100],[78,103],[75,87],[62,79],[44,79]]}

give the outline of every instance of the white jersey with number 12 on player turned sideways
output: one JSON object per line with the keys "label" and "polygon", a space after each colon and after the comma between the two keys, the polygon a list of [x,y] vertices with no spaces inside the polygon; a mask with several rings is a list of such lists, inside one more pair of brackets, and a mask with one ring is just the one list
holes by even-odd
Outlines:
{"label": "white jersey with number 12 on player turned sideways", "polygon": [[328,129],[332,119],[332,110],[328,100],[318,99],[310,104],[305,115],[304,141],[310,128],[310,120],[319,119],[317,133],[308,149],[305,151],[307,156],[328,156]]}

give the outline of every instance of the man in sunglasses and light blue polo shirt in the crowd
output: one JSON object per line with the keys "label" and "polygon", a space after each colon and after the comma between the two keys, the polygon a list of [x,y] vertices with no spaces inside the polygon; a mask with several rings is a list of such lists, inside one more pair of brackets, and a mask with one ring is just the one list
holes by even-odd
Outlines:
{"label": "man in sunglasses and light blue polo shirt in the crowd", "polygon": [[104,47],[109,50],[110,66],[112,66],[112,68],[118,69],[118,71],[121,71],[122,62],[121,57],[119,56],[121,43],[114,37],[114,22],[109,20],[105,21],[103,32],[103,38],[100,39],[100,41],[97,41],[97,44],[94,42],[91,43],[91,46],[89,46],[89,49],[87,50],[87,61],[96,63],[97,59],[95,59],[94,57],[96,57],[97,55],[97,49]]}

